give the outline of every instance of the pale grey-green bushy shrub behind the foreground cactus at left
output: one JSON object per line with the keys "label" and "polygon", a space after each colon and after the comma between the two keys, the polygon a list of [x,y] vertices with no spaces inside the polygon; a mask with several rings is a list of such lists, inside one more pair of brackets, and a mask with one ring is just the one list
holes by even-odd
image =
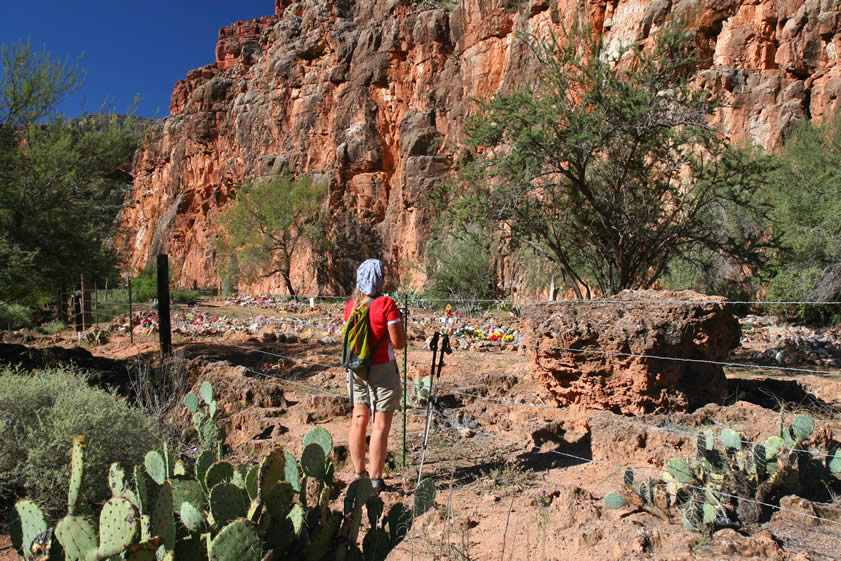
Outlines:
{"label": "pale grey-green bushy shrub behind the foreground cactus at left", "polygon": [[109,496],[111,462],[142,463],[158,440],[150,417],[90,387],[83,373],[0,370],[0,496],[26,495],[51,514],[66,510],[67,451],[79,434],[89,446],[84,498],[91,502]]}

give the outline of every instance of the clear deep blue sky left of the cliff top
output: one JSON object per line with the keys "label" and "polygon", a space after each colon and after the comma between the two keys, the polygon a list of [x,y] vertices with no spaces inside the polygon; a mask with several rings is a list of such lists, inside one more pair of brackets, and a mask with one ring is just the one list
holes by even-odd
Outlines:
{"label": "clear deep blue sky left of the cliff top", "polygon": [[166,117],[175,83],[215,60],[220,27],[272,13],[273,0],[0,0],[0,43],[83,55],[85,82],[59,107],[68,117],[106,102],[123,113],[135,94],[138,115]]}

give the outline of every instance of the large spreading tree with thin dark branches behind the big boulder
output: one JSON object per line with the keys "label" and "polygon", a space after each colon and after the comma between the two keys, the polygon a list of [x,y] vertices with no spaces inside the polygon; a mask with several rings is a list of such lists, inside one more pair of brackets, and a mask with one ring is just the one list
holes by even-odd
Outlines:
{"label": "large spreading tree with thin dark branches behind the big boulder", "polygon": [[765,212],[763,159],[709,126],[717,104],[693,84],[693,39],[668,26],[611,56],[577,23],[529,37],[537,83],[480,103],[452,220],[499,225],[579,297],[646,288],[699,247],[760,259],[768,240],[744,221]]}

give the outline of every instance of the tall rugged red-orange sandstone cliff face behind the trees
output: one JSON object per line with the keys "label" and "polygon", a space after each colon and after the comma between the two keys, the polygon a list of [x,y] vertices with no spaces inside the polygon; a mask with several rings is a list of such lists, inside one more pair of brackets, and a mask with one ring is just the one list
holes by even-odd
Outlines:
{"label": "tall rugged red-orange sandstone cliff face behind the trees", "polygon": [[[137,154],[128,266],[166,252],[180,284],[215,286],[217,219],[237,184],[289,171],[328,182],[332,209],[375,225],[392,273],[417,283],[423,195],[452,169],[473,99],[533,81],[521,33],[576,13],[607,53],[686,15],[705,51],[698,83],[728,99],[717,120],[733,138],[774,149],[841,103],[841,0],[276,0],[274,15],[220,31],[216,61],[176,84]],[[302,251],[293,279],[314,293],[311,263]]]}

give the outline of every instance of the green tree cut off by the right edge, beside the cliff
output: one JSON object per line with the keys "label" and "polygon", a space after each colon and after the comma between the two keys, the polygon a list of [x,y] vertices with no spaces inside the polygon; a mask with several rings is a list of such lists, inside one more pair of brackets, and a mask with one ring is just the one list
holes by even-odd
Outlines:
{"label": "green tree cut off by the right edge, beside the cliff", "polygon": [[[787,138],[779,159],[781,165],[773,177],[771,193],[783,248],[774,259],[776,275],[771,281],[770,297],[838,300],[841,113],[821,124],[800,122]],[[809,315],[817,311],[812,310]]]}

